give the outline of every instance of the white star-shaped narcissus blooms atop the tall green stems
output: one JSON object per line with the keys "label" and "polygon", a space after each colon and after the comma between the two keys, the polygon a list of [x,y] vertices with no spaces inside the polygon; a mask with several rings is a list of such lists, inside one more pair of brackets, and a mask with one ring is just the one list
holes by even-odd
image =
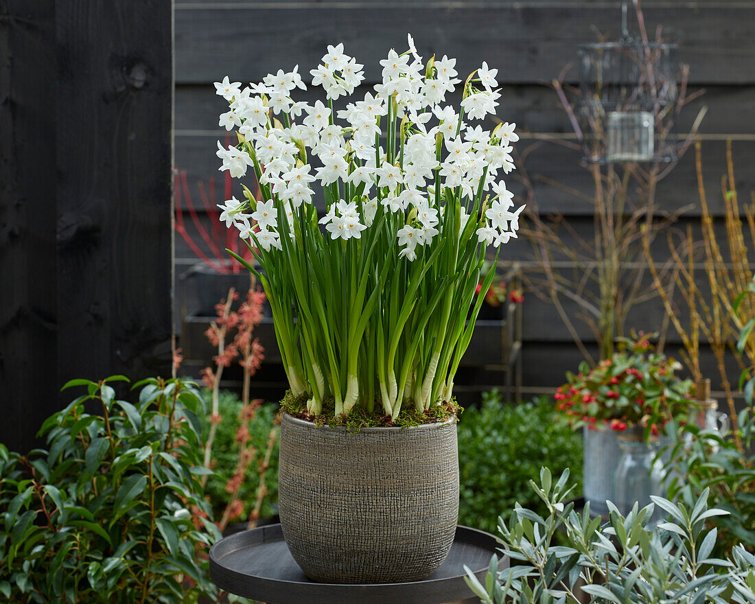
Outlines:
{"label": "white star-shaped narcissus blooms atop the tall green stems", "polygon": [[[513,195],[498,179],[499,171],[508,174],[514,167],[510,143],[519,139],[515,125],[504,123],[487,131],[464,122],[495,114],[501,96],[496,90],[498,70],[482,63],[476,77],[467,80],[461,111],[456,112],[445,105],[446,94],[461,82],[456,60],[444,55],[425,65],[411,35],[408,45],[405,53],[391,50],[381,60],[382,82],[374,86],[374,93],[348,103],[337,116],[331,101],[352,94],[364,79],[362,65],[344,54],[342,44],[328,46],[322,62],[310,71],[313,85],[325,89],[328,106],[320,100],[310,105],[291,98],[294,89],[306,89],[298,66],[243,89],[227,77],[216,82],[217,94],[230,103],[219,123],[229,131],[236,128],[240,141],[228,149],[218,143],[220,170],[243,177],[254,167],[268,195],[251,214],[245,213],[253,207],[249,202],[228,200],[220,205],[222,220],[236,224],[242,237],[253,236],[265,250],[280,248],[275,202],[282,202],[291,224],[297,208],[312,203],[311,183],[317,180],[328,197],[343,200],[334,201],[319,221],[333,239],[359,239],[383,207],[403,214],[405,223],[397,232],[399,255],[414,260],[418,247],[430,244],[442,230],[440,216],[448,199],[440,193],[448,190],[461,203],[461,230],[474,200],[482,195],[485,212],[476,232],[479,242],[500,245],[516,237],[523,206],[512,210]],[[276,116],[282,116],[285,125]],[[386,133],[388,149],[378,144]]]}

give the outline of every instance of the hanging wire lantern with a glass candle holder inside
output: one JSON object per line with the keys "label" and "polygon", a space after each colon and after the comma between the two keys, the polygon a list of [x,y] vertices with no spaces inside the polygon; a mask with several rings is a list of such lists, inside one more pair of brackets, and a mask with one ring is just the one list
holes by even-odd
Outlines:
{"label": "hanging wire lantern with a glass candle holder inside", "polygon": [[622,17],[618,42],[579,48],[584,159],[671,162],[676,159],[679,45],[630,36],[626,4]]}

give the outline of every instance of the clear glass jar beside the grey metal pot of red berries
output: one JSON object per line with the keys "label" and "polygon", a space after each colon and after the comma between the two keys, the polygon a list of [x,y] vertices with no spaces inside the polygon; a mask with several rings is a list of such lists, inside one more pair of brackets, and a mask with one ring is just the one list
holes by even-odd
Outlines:
{"label": "clear glass jar beside the grey metal pot of red berries", "polygon": [[[650,495],[663,495],[661,484],[664,479],[663,464],[656,459],[658,439],[645,442],[642,429],[634,429],[618,439],[621,457],[614,475],[614,503],[618,510],[627,515],[634,504],[642,509],[651,504]],[[661,520],[663,510],[655,507],[649,526]]]}

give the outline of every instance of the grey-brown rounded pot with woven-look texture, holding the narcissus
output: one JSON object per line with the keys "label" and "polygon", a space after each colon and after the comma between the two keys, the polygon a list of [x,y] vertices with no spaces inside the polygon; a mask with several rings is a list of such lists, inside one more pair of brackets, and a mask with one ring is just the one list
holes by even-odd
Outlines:
{"label": "grey-brown rounded pot with woven-look texture, holding the narcissus", "polygon": [[419,581],[448,555],[459,509],[454,418],[350,433],[284,414],[279,460],[283,535],[314,581]]}

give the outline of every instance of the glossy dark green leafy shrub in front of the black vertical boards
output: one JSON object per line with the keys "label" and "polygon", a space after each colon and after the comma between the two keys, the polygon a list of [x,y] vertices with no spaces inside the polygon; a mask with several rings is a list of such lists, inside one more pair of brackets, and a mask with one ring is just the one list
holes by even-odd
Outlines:
{"label": "glossy dark green leafy shrub in front of the black vertical boards", "polygon": [[[116,400],[107,385],[116,381],[125,378],[66,384],[86,393],[43,424],[49,451],[22,463],[0,445],[3,601],[132,604],[145,588],[145,602],[217,599],[194,559],[220,537],[191,471],[202,463],[201,431],[167,415],[188,417],[183,401],[201,408],[180,396],[196,387],[150,379],[134,405]],[[207,516],[199,529],[186,507]],[[183,577],[193,584],[183,586]]]}

